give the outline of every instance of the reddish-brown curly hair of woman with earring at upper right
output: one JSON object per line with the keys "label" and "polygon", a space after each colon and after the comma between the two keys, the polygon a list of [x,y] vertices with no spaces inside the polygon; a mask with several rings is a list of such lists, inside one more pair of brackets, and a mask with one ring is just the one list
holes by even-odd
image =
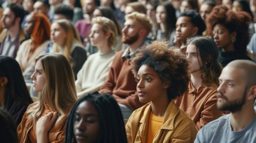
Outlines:
{"label": "reddish-brown curly hair of woman with earring at upper right", "polygon": [[236,42],[234,48],[238,52],[245,53],[246,45],[249,43],[249,24],[251,23],[251,16],[246,12],[235,12],[229,10],[224,5],[216,6],[211,14],[209,14],[206,25],[207,35],[212,36],[214,26],[222,24],[230,33],[236,32]]}

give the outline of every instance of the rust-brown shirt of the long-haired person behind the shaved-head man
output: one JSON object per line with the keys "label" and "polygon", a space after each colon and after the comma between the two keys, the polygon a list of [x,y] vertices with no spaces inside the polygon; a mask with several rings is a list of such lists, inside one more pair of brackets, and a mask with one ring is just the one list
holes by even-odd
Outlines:
{"label": "rust-brown shirt of the long-haired person behind the shaved-head man", "polygon": [[185,111],[193,120],[196,129],[218,119],[223,112],[217,108],[217,88],[204,85],[195,89],[192,82],[189,82],[189,91],[175,100],[175,104]]}

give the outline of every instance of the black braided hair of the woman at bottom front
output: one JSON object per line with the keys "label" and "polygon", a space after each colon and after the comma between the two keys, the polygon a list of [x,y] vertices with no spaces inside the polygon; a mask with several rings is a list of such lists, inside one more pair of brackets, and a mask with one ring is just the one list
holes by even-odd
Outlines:
{"label": "black braided hair of the woman at bottom front", "polygon": [[124,117],[116,100],[109,94],[87,94],[80,98],[73,105],[67,119],[66,143],[76,142],[73,126],[75,122],[75,112],[81,102],[90,101],[95,105],[100,119],[100,138],[98,142],[127,142],[125,132]]}

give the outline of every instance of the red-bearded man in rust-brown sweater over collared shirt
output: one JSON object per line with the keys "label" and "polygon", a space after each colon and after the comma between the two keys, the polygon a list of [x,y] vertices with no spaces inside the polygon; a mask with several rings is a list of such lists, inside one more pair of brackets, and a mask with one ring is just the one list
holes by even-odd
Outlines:
{"label": "red-bearded man in rust-brown sweater over collared shirt", "polygon": [[130,70],[129,61],[134,57],[136,50],[143,45],[152,29],[152,23],[146,14],[137,12],[128,14],[125,20],[122,42],[127,43],[128,47],[116,53],[100,93],[112,94],[118,101],[124,118],[128,119],[132,111],[143,105],[135,92],[137,83]]}

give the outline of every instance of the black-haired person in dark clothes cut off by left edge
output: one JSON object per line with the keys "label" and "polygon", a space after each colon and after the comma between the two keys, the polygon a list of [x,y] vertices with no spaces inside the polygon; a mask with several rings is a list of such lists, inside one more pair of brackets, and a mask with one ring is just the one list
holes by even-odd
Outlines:
{"label": "black-haired person in dark clothes cut off by left edge", "polygon": [[16,128],[27,106],[33,101],[27,91],[20,66],[14,58],[0,56],[0,104],[13,119]]}

